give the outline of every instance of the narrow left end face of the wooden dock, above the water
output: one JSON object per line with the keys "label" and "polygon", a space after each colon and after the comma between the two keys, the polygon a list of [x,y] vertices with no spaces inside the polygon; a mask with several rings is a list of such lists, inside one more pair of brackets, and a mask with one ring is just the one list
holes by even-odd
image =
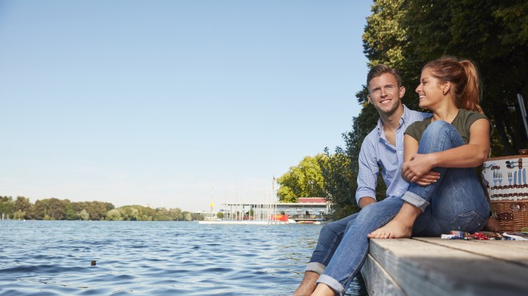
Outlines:
{"label": "narrow left end face of the wooden dock, above the water", "polygon": [[394,279],[370,255],[367,255],[365,264],[363,264],[361,276],[363,276],[369,296],[406,296]]}

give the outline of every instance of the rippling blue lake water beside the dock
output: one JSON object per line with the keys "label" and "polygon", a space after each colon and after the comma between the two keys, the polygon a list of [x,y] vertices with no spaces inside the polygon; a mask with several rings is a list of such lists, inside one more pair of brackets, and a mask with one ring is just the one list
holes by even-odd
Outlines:
{"label": "rippling blue lake water beside the dock", "polygon": [[320,229],[4,220],[0,295],[291,295]]}

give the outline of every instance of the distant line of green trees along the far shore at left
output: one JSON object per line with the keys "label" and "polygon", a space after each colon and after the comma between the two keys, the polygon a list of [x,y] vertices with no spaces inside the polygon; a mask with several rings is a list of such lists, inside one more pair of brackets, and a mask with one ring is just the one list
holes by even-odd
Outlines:
{"label": "distant line of green trees along the far shore at left", "polygon": [[203,220],[201,214],[182,211],[125,205],[115,208],[110,202],[71,202],[45,198],[31,203],[29,198],[0,196],[0,218],[34,220],[113,220],[113,221],[194,221]]}

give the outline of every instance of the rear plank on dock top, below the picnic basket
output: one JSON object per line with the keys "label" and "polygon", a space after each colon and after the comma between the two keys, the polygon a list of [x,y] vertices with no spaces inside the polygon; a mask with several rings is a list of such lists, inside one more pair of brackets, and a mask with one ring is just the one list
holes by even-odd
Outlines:
{"label": "rear plank on dock top, below the picnic basket", "polygon": [[[443,245],[444,247],[451,247],[528,267],[528,249],[515,247],[515,243],[521,243],[520,241],[496,240],[497,244],[494,244],[486,243],[492,240],[442,240],[441,238],[413,238],[413,240]],[[524,245],[528,245],[528,243],[524,242]]]}

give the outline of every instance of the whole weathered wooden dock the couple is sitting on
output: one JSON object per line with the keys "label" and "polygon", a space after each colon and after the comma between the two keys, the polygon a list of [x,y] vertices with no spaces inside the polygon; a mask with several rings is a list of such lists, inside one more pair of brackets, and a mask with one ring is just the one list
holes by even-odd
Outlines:
{"label": "whole weathered wooden dock the couple is sitting on", "polygon": [[370,296],[528,295],[528,241],[372,239]]}

